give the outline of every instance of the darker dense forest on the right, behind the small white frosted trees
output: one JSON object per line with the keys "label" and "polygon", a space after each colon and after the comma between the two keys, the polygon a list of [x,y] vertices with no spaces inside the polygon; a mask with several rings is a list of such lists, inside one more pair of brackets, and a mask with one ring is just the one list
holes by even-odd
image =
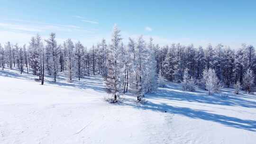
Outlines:
{"label": "darker dense forest on the right, behind the small white frosted trees", "polygon": [[[215,48],[209,44],[205,49],[172,44],[157,51],[157,72],[161,72],[169,81],[181,82],[186,69],[189,78],[196,79],[202,88],[206,88],[202,81],[203,72],[209,69],[214,70],[219,84],[223,86],[229,87],[239,81],[250,92],[255,81],[256,57],[252,45],[242,44],[240,49],[234,50],[221,44]],[[247,74],[248,69],[251,70],[250,74]]]}

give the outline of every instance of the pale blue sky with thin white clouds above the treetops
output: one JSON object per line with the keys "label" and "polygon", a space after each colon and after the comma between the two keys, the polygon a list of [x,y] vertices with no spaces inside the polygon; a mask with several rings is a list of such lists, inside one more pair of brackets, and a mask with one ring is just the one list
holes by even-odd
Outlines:
{"label": "pale blue sky with thin white clouds above the treetops", "polygon": [[[20,2],[22,1],[22,2]],[[1,0],[0,43],[28,43],[55,32],[84,45],[110,39],[113,25],[129,36],[166,45],[256,46],[255,0]]]}

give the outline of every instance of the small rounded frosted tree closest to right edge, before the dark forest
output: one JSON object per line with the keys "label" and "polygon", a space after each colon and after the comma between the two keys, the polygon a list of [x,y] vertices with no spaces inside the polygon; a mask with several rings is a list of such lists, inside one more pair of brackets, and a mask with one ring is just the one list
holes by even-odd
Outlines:
{"label": "small rounded frosted tree closest to right edge, before the dark forest", "polygon": [[247,69],[243,78],[243,87],[248,93],[250,93],[253,84],[254,84],[253,71],[251,69]]}

